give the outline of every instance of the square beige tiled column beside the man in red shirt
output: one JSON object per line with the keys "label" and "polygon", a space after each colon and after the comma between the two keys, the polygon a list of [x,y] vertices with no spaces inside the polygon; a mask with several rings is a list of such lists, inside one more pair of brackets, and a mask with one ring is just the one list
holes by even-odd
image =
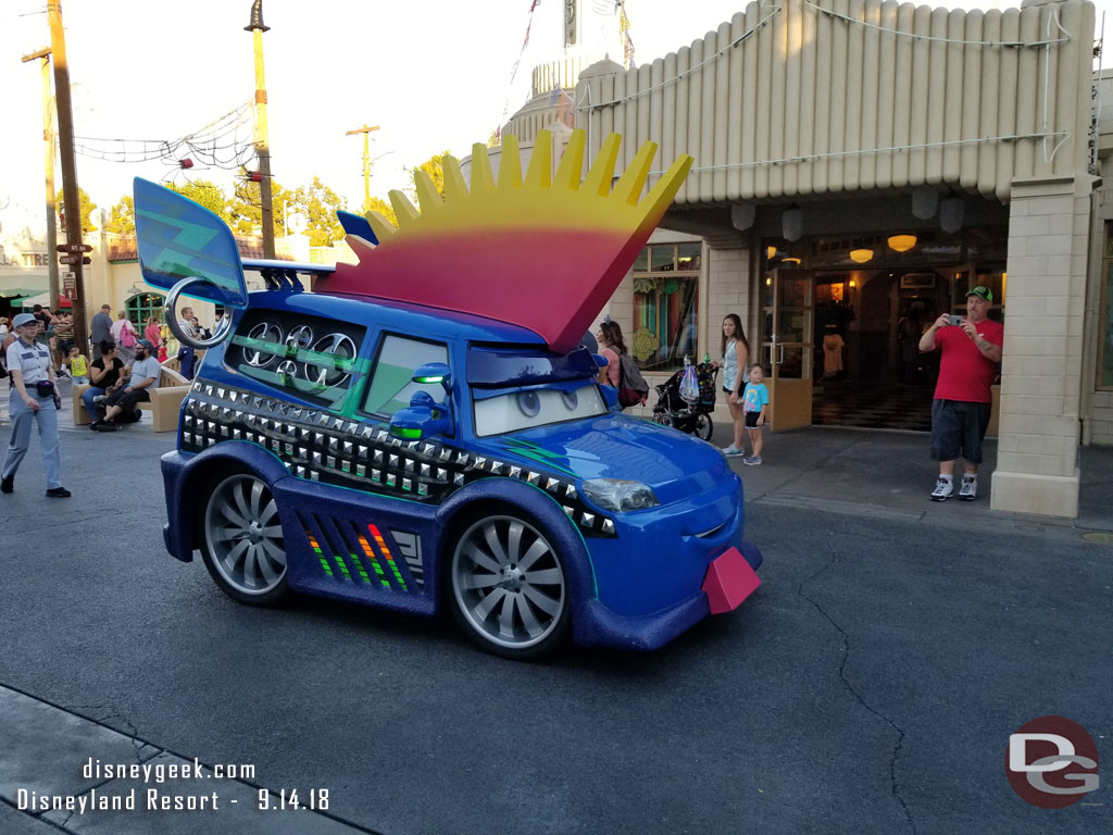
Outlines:
{"label": "square beige tiled column beside the man in red shirt", "polygon": [[1076,518],[1091,193],[1086,174],[1014,179],[994,510]]}

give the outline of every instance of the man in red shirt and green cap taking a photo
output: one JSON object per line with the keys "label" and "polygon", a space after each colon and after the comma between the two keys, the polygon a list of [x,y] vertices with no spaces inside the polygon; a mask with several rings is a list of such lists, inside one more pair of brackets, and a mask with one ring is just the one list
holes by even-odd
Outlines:
{"label": "man in red shirt and green cap taking a photo", "polygon": [[[977,495],[977,465],[982,463],[982,439],[989,425],[1004,325],[987,318],[993,292],[983,285],[966,294],[966,318],[952,324],[944,313],[920,337],[924,353],[940,352],[939,379],[932,402],[932,459],[939,462],[939,479],[932,501],[942,502],[954,492],[955,459],[966,462],[958,498]],[[956,317],[957,318],[957,317]]]}

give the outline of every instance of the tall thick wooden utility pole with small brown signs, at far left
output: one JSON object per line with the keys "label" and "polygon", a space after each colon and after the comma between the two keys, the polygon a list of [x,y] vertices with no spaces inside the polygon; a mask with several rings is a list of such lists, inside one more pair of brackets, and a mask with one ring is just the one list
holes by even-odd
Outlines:
{"label": "tall thick wooden utility pole with small brown signs, at far left", "polygon": [[[47,0],[50,20],[50,51],[55,56],[55,102],[58,109],[58,146],[62,158],[62,202],[66,205],[66,257],[73,271],[73,341],[85,348],[89,344],[88,322],[85,316],[85,276],[81,249],[81,198],[77,189],[77,164],[73,158],[73,107],[69,92],[69,63],[66,61],[66,32],[62,29],[61,0]],[[55,220],[50,218],[47,228]],[[73,252],[77,248],[78,252]],[[77,257],[70,257],[76,255]],[[57,257],[50,253],[50,257]],[[55,302],[57,304],[57,301]]]}

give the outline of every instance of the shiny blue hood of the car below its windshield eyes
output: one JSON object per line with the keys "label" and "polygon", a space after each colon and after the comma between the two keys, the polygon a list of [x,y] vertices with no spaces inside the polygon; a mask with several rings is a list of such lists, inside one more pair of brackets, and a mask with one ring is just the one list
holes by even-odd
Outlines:
{"label": "shiny blue hood of the car below its windshield eyes", "polygon": [[689,499],[737,478],[722,453],[706,441],[627,415],[479,439],[476,450],[523,468],[583,480],[640,481],[662,503]]}

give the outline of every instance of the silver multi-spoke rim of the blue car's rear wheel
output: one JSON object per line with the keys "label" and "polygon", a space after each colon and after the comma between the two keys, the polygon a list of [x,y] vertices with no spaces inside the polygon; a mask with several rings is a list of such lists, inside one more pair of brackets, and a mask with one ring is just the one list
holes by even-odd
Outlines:
{"label": "silver multi-spoke rim of the blue car's rear wheel", "polygon": [[265,595],[286,577],[278,505],[253,475],[233,475],[213,491],[205,542],[220,577],[240,593]]}

